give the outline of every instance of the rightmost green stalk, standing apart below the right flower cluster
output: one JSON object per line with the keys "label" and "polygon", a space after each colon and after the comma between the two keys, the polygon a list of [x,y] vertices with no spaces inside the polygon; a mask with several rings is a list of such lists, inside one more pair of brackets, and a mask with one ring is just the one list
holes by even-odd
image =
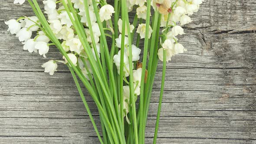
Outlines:
{"label": "rightmost green stalk, standing apart below the right flower cluster", "polygon": [[165,71],[166,71],[166,50],[164,50],[163,53],[164,53],[164,58],[163,58],[164,62],[163,62],[162,82],[161,82],[161,91],[160,91],[159,104],[158,104],[158,116],[157,116],[156,126],[154,130],[153,144],[156,144],[157,142],[158,126],[159,126],[160,112],[161,112],[161,106],[162,106],[162,98],[164,93],[164,80],[165,80]]}

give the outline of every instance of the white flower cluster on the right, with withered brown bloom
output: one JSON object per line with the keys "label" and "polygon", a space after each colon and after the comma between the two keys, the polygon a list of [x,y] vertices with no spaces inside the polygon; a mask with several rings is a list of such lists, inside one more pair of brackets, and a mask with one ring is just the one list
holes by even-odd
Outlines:
{"label": "white flower cluster on the right, with withered brown bloom", "polygon": [[[177,43],[177,35],[183,35],[184,24],[190,23],[192,20],[189,15],[199,10],[203,0],[152,0],[151,5],[154,10],[158,10],[161,14],[161,27],[173,25],[170,32],[167,33],[162,48],[158,49],[158,58],[163,61],[163,50],[166,50],[166,61],[170,61],[172,56],[187,51],[180,43]],[[173,3],[176,3],[172,6]],[[170,18],[168,19],[168,15]],[[180,23],[181,26],[178,26]]]}

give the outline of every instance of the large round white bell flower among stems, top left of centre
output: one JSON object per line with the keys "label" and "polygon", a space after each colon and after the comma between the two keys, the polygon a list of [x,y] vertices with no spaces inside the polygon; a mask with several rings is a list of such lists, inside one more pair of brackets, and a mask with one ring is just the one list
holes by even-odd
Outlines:
{"label": "large round white bell flower among stems, top left of centre", "polygon": [[115,10],[110,4],[104,5],[99,9],[99,16],[102,22],[104,20],[110,20],[112,13],[115,13]]}

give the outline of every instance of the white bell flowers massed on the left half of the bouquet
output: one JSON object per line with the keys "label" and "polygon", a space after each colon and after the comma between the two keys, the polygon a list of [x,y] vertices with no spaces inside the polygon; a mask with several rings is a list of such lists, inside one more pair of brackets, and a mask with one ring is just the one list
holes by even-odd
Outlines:
{"label": "white bell flowers massed on the left half of the bouquet", "polygon": [[[14,0],[14,3],[23,4],[25,0]],[[79,15],[81,16],[81,22],[88,27],[88,22],[85,16],[85,5],[84,0],[71,0],[73,7],[79,10]],[[99,0],[97,0],[97,3]],[[74,28],[72,26],[72,21],[70,20],[69,13],[65,10],[62,3],[56,0],[43,0],[44,4],[44,13],[47,14],[48,23],[56,38],[61,40],[62,48],[67,52],[67,56],[72,61],[74,65],[79,64],[79,67],[82,73],[87,79],[89,79],[89,74],[92,74],[92,69],[89,64],[86,52],[82,46],[82,43],[76,35]],[[100,56],[100,44],[99,37],[101,36],[98,23],[96,23],[95,11],[92,6],[92,0],[88,0],[89,6],[89,15],[92,23],[92,31],[94,34],[94,39],[96,43],[97,55]],[[86,7],[87,8],[87,7]],[[115,13],[114,8],[107,4],[100,8],[99,15],[102,21],[110,20],[113,13]],[[73,17],[72,13],[70,15]],[[30,17],[21,17],[18,20],[8,20],[5,22],[8,25],[8,30],[11,34],[16,34],[16,37],[19,38],[20,42],[23,43],[23,49],[28,50],[29,52],[39,52],[40,55],[46,57],[46,53],[49,51],[49,46],[53,45],[49,43],[50,39],[46,34],[40,29],[41,23],[36,16]],[[33,32],[36,33],[36,36],[31,39]],[[85,28],[85,33],[87,36],[87,41],[92,43],[92,38],[90,36],[90,31],[88,28]],[[92,44],[91,44],[92,46]],[[96,54],[92,49],[92,53],[95,56]],[[65,61],[61,60],[49,60],[42,65],[45,68],[45,72],[49,72],[50,75],[53,75],[57,70],[57,62],[67,63],[66,58],[63,56]]]}

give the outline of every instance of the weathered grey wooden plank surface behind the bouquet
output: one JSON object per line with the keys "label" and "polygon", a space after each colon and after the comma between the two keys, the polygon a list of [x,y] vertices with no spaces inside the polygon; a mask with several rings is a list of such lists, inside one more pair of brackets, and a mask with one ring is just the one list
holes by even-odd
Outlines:
{"label": "weathered grey wooden plank surface behind the bouquet", "polygon": [[[4,21],[33,16],[28,3],[0,5],[0,143],[98,143],[71,74],[61,59],[23,50]],[[179,37],[188,49],[167,64],[159,144],[256,144],[256,1],[205,0]],[[161,63],[146,131],[153,141]],[[86,91],[85,91],[86,93]],[[95,118],[92,99],[87,96]],[[97,124],[99,121],[96,120]]]}

